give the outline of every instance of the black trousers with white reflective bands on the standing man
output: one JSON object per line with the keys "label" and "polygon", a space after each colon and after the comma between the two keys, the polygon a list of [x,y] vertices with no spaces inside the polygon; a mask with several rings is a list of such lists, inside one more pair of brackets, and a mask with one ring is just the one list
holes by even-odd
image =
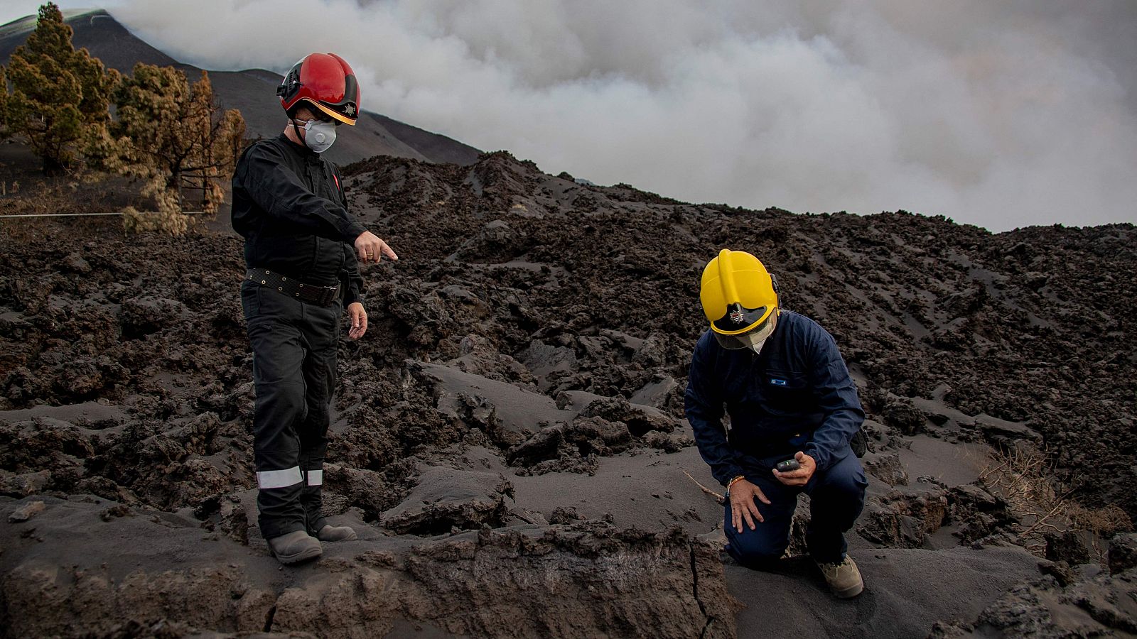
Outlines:
{"label": "black trousers with white reflective bands on the standing man", "polygon": [[257,390],[252,417],[260,533],[315,536],[342,304],[316,306],[246,280],[241,306]]}

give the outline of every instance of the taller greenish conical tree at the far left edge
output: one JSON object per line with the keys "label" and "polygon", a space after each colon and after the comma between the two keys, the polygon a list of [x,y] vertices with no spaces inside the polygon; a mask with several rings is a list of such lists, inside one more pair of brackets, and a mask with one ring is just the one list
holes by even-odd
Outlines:
{"label": "taller greenish conical tree at the far left edge", "polygon": [[27,138],[48,174],[72,166],[77,150],[101,134],[118,73],[86,49],[75,50],[72,27],[53,2],[40,7],[35,31],[11,53],[7,101],[11,132]]}

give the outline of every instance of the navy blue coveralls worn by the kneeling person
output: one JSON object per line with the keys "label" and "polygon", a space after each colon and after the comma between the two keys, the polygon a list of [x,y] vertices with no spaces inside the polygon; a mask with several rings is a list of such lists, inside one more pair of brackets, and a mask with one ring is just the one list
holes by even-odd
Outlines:
{"label": "navy blue coveralls worn by the kneeling person", "polygon": [[[802,492],[811,504],[810,555],[819,563],[844,559],[844,532],[861,514],[868,486],[849,447],[864,412],[832,335],[790,310],[781,312],[761,355],[724,349],[706,331],[691,357],[686,410],[699,454],[719,483],[745,475],[771,501],[757,501],[764,523],[750,530],[744,522],[737,532],[727,500],[727,550],[736,561],[761,566],[785,553]],[[771,471],[798,450],[813,457],[818,470],[804,487],[785,486]]]}

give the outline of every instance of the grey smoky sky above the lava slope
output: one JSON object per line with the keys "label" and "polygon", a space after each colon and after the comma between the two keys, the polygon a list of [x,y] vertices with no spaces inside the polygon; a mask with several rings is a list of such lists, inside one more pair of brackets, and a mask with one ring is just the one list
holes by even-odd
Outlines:
{"label": "grey smoky sky above the lava slope", "polygon": [[[36,6],[9,0],[0,20]],[[365,108],[601,184],[993,231],[1137,222],[1131,0],[106,7],[210,69],[340,53]]]}

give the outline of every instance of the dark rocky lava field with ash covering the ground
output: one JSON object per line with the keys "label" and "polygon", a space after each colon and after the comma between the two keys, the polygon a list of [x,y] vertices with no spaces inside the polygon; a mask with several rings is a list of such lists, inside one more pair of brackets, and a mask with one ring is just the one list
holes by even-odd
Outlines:
{"label": "dark rocky lava field with ash covering the ground", "polygon": [[[345,173],[401,259],[340,348],[325,501],[360,539],[294,569],[255,525],[240,240],[3,226],[7,636],[1137,632],[1131,225],[689,205],[504,152]],[[804,507],[782,570],[720,559],[682,390],[723,247],[861,388],[856,600]]]}

